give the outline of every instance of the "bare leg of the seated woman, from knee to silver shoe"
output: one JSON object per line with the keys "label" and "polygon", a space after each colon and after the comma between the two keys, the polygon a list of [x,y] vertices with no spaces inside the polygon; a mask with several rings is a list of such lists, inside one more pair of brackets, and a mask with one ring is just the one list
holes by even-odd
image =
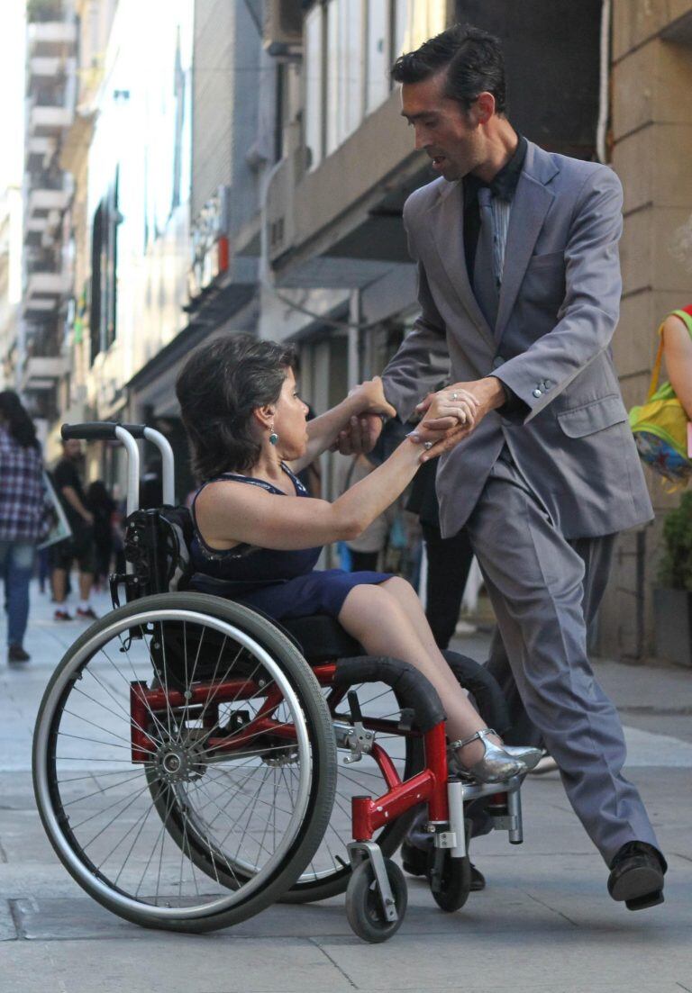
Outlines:
{"label": "bare leg of the seated woman, from knee to silver shoe", "polygon": [[[409,610],[408,595],[399,591],[407,587],[418,602],[427,631],[419,633]],[[415,665],[432,682],[447,715],[450,739],[468,738],[485,725],[466,698],[451,669],[439,652],[421,602],[409,584],[393,577],[379,586],[354,587],[339,613],[339,624],[372,655],[391,655]],[[416,618],[416,621],[420,621]],[[422,637],[423,635],[423,637]],[[485,748],[474,741],[461,753],[464,765],[482,759]]]}

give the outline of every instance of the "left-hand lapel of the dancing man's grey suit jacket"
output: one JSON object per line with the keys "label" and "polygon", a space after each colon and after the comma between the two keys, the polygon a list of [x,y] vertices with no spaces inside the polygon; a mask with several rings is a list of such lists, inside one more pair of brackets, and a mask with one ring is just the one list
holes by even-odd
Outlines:
{"label": "left-hand lapel of the dancing man's grey suit jacket", "polygon": [[430,208],[432,244],[451,289],[479,334],[494,350],[492,331],[468,282],[463,247],[463,201],[461,183],[449,184]]}

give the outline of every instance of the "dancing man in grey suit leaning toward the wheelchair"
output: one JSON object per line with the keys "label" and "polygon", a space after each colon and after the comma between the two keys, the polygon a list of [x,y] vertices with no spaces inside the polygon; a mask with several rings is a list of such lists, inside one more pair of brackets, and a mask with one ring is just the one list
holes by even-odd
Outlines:
{"label": "dancing man in grey suit leaning toward the wheelchair", "polygon": [[423,313],[384,372],[387,398],[407,420],[447,372],[452,402],[475,397],[470,430],[420,429],[432,454],[448,453],[442,535],[467,529],[521,703],[610,868],[611,897],[651,907],[666,863],[621,774],[622,729],[586,638],[614,532],[651,517],[609,353],[620,185],[517,135],[499,43],[482,31],[451,28],[392,75],[439,176],[404,208]]}

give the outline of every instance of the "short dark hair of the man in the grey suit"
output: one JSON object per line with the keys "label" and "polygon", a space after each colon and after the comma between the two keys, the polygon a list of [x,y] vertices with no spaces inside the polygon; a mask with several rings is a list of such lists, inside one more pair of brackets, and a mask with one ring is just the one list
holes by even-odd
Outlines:
{"label": "short dark hair of the man in the grey suit", "polygon": [[495,97],[495,110],[507,107],[504,57],[493,35],[470,24],[455,24],[429,38],[420,49],[397,59],[392,67],[395,82],[422,82],[446,70],[444,95],[468,110],[479,93]]}

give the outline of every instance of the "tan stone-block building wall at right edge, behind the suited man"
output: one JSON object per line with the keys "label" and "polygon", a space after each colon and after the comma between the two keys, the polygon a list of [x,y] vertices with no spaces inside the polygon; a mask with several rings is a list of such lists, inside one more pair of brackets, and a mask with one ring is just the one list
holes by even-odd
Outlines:
{"label": "tan stone-block building wall at right edge, behind the suited man", "polygon": [[[613,0],[610,161],[624,189],[622,302],[613,340],[626,405],[646,396],[665,315],[692,301],[692,258],[675,257],[674,233],[692,212],[692,3]],[[652,650],[652,588],[666,494],[648,474],[656,519],[621,535],[602,611],[603,650]]]}

